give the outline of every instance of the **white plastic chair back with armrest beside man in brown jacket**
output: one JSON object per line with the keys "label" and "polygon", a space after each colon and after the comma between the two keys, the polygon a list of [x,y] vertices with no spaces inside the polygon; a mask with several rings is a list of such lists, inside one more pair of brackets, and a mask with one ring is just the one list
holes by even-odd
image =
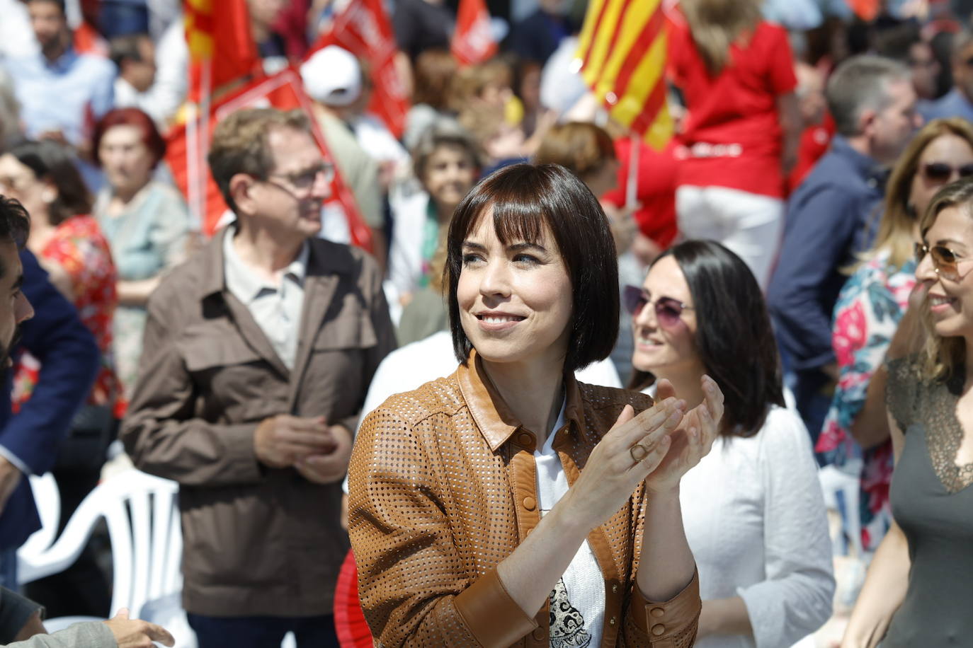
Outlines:
{"label": "white plastic chair back with armrest beside man in brown jacket", "polygon": [[147,601],[182,588],[178,491],[176,482],[139,470],[115,475],[85,497],[54,545],[27,566],[46,573],[67,568],[104,518],[112,543],[112,610],[127,607],[137,616]]}

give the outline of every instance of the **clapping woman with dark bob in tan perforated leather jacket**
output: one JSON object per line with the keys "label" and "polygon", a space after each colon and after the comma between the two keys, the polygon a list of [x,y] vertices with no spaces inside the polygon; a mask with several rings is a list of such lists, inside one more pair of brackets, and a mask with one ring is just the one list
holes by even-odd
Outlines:
{"label": "clapping woman with dark bob in tan perforated leather jacket", "polygon": [[[557,165],[489,176],[456,208],[444,281],[459,366],[391,396],[349,468],[359,594],[384,646],[691,645],[699,581],[682,475],[723,414],[578,383],[611,350],[615,250]],[[530,635],[530,638],[527,638]]]}

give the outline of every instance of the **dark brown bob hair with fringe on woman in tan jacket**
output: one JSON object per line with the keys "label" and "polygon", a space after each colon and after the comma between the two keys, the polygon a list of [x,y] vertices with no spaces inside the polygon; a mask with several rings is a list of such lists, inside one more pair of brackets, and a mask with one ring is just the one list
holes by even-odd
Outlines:
{"label": "dark brown bob hair with fringe on woman in tan jacket", "polygon": [[619,290],[615,243],[595,195],[557,164],[514,164],[490,174],[453,212],[443,281],[450,299],[456,358],[466,363],[470,344],[459,319],[456,287],[463,241],[492,208],[493,228],[504,245],[537,243],[550,230],[571,280],[570,337],[564,370],[575,371],[611,353],[618,337]]}

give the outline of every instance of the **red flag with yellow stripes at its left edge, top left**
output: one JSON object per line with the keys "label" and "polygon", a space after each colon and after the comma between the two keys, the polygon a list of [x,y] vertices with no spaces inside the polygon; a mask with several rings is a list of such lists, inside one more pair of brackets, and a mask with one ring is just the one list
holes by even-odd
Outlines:
{"label": "red flag with yellow stripes at its left edge, top left", "polygon": [[183,8],[190,52],[190,101],[199,102],[214,88],[260,72],[246,0],[185,0]]}

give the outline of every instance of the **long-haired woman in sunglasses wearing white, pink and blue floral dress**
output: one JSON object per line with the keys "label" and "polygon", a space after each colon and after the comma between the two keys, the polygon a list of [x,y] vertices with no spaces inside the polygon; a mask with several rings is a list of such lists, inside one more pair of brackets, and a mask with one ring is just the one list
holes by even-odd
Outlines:
{"label": "long-haired woman in sunglasses wearing white, pink and blue floral dress", "polygon": [[861,546],[868,552],[876,550],[891,524],[892,447],[881,367],[916,284],[913,245],[919,240],[919,217],[939,188],[970,175],[973,125],[959,118],[925,124],[892,169],[875,245],[862,256],[835,305],[838,385],[815,450],[825,464],[839,467],[861,458],[862,505],[848,514],[860,515],[860,525],[849,527],[860,526]]}

